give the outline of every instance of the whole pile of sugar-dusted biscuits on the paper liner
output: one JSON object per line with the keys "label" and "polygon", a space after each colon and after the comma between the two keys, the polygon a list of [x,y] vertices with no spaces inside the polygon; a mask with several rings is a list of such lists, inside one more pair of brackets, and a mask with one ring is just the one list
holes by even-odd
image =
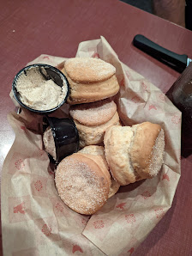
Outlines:
{"label": "whole pile of sugar-dusted biscuits on the paper liner", "polygon": [[160,125],[122,126],[117,105],[116,69],[97,58],[70,58],[63,65],[69,81],[69,115],[80,147],[57,166],[55,181],[63,202],[81,214],[98,211],[119,189],[159,173],[165,149]]}

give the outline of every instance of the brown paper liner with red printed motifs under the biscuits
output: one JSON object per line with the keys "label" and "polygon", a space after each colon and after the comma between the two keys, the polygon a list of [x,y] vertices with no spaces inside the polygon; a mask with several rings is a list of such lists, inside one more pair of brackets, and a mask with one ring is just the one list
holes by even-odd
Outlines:
{"label": "brown paper liner with red printed motifs under the biscuits", "polygon": [[[43,149],[41,117],[10,113],[15,142],[3,164],[4,255],[130,255],[170,209],[180,178],[181,113],[159,88],[121,63],[104,37],[81,42],[76,57],[101,58],[117,69],[117,111],[124,125],[150,121],[165,130],[165,160],[158,176],[123,186],[93,216],[70,210],[57,195]],[[41,55],[30,64],[62,66]],[[68,106],[53,115],[68,114]]]}

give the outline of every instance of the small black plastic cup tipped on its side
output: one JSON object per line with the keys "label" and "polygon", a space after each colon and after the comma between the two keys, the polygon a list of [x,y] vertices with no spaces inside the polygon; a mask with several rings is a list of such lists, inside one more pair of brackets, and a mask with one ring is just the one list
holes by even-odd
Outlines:
{"label": "small black plastic cup tipped on its side", "polygon": [[[45,116],[43,119],[43,131],[51,126],[52,135],[56,146],[56,163],[64,157],[79,150],[79,134],[73,119],[57,119]],[[51,162],[55,162],[50,156]]]}

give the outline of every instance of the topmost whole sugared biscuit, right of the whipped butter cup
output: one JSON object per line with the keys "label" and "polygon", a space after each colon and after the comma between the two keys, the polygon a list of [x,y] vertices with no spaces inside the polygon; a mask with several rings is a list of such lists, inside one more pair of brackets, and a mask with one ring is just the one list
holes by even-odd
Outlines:
{"label": "topmost whole sugared biscuit, right of the whipped butter cup", "polygon": [[62,72],[69,81],[69,104],[100,101],[119,90],[116,68],[98,58],[69,58]]}

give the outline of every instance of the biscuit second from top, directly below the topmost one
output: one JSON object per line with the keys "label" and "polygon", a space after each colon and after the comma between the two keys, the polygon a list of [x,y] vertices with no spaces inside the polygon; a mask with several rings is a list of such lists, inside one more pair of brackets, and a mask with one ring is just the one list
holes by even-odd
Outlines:
{"label": "biscuit second from top, directly below the topmost one", "polygon": [[69,114],[79,132],[81,148],[102,144],[105,130],[120,125],[117,106],[110,99],[70,106]]}

